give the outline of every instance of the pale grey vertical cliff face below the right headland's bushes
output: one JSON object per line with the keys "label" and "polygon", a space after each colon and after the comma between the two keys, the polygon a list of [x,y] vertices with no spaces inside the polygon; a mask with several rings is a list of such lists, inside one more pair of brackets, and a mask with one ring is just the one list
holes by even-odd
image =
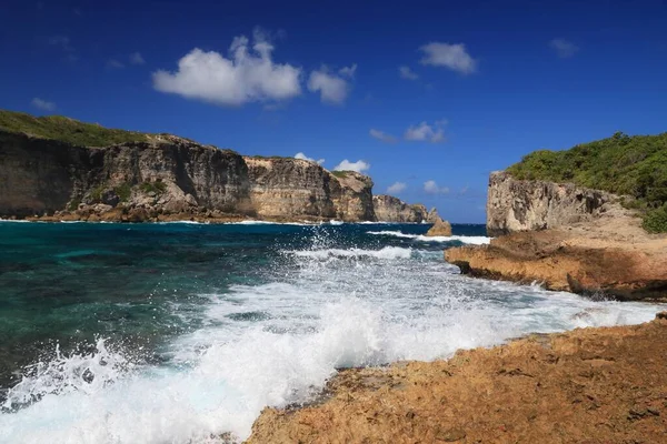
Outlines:
{"label": "pale grey vertical cliff face below the right headland's bushes", "polygon": [[489,178],[487,230],[489,235],[497,236],[567,226],[598,216],[617,200],[603,191],[515,180],[506,172],[494,172]]}

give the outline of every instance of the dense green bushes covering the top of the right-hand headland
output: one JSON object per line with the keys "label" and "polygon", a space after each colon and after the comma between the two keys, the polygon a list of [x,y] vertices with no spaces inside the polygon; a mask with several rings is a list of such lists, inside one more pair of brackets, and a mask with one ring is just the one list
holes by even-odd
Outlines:
{"label": "dense green bushes covering the top of the right-hand headland", "polygon": [[535,151],[507,169],[519,180],[571,182],[635,198],[644,228],[667,232],[667,133],[627,135],[578,144],[566,151]]}

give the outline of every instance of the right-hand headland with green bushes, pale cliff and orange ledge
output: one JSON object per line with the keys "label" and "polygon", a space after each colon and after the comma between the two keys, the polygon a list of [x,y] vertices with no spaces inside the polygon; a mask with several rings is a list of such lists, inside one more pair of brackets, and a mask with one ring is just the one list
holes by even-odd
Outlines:
{"label": "right-hand headland with green bushes, pale cliff and orange ledge", "polygon": [[[569,151],[536,152],[491,173],[487,230],[497,238],[449,249],[446,260],[477,278],[537,282],[593,297],[667,301],[667,234],[659,233],[667,231],[667,172],[658,162],[667,153],[665,140],[617,133]],[[616,152],[630,153],[636,163],[623,159],[605,167]],[[613,175],[615,168],[624,175]]]}

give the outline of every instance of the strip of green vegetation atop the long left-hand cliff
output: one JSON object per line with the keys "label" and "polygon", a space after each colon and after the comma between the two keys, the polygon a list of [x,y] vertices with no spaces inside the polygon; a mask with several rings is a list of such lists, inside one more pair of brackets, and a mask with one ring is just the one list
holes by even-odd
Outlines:
{"label": "strip of green vegetation atop the long left-hand cliff", "polygon": [[36,118],[23,112],[6,110],[0,110],[0,129],[83,147],[108,147],[117,143],[149,140],[149,134],[146,133],[112,130],[62,115]]}

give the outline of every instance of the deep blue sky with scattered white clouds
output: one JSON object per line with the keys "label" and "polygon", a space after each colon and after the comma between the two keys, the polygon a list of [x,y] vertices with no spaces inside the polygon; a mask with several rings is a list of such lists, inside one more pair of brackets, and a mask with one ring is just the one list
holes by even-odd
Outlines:
{"label": "deep blue sky with scattered white clouds", "polygon": [[103,3],[0,1],[0,108],[348,160],[454,222],[530,151],[667,130],[661,1]]}

